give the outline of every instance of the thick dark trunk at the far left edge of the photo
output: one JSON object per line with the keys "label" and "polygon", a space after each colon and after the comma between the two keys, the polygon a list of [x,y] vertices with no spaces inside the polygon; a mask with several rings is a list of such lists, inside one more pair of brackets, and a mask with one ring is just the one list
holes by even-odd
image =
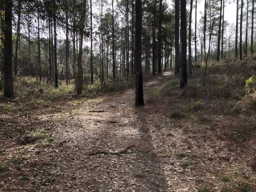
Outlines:
{"label": "thick dark trunk at the far left edge of the photo", "polygon": [[12,77],[12,0],[5,1],[5,27],[4,27],[4,96],[14,97]]}

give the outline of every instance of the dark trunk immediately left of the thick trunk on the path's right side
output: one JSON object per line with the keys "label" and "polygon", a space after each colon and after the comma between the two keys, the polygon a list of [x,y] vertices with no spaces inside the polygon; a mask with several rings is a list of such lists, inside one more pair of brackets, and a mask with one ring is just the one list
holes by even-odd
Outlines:
{"label": "dark trunk immediately left of the thick trunk on the path's right side", "polygon": [[[156,1],[156,0],[155,0]],[[179,30],[179,22],[180,22],[180,6],[179,0],[175,0],[175,74],[179,74],[180,72],[180,30]]]}

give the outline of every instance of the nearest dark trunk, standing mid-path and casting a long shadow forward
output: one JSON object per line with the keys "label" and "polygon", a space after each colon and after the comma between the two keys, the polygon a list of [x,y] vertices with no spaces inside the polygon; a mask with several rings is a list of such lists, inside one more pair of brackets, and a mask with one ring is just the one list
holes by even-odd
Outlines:
{"label": "nearest dark trunk, standing mid-path and casting a long shadow forward", "polygon": [[135,74],[136,74],[136,91],[135,106],[144,105],[143,99],[143,79],[141,63],[141,30],[142,30],[142,5],[141,0],[135,0]]}

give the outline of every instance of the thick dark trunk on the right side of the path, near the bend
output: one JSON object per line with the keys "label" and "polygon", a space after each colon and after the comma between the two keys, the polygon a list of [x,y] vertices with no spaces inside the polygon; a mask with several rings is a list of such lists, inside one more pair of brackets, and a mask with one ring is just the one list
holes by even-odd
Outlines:
{"label": "thick dark trunk on the right side of the path, near the bend", "polygon": [[187,84],[187,19],[186,19],[186,0],[181,0],[180,4],[180,39],[181,39],[181,67],[180,67],[180,88]]}

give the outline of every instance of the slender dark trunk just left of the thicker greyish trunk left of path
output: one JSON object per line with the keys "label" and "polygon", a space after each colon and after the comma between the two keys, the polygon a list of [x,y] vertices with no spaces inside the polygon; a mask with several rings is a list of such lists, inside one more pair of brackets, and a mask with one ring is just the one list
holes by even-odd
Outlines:
{"label": "slender dark trunk just left of the thicker greyish trunk left of path", "polygon": [[69,84],[69,14],[68,0],[66,0],[66,84]]}

